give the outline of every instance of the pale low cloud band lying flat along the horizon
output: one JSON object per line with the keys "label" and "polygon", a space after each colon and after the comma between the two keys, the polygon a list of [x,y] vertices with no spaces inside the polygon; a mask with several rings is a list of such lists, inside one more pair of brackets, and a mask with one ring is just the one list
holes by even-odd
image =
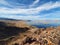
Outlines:
{"label": "pale low cloud band lying flat along the horizon", "polygon": [[17,15],[1,15],[0,18],[10,18],[18,20],[60,20],[60,18],[42,18],[40,16],[17,16]]}

